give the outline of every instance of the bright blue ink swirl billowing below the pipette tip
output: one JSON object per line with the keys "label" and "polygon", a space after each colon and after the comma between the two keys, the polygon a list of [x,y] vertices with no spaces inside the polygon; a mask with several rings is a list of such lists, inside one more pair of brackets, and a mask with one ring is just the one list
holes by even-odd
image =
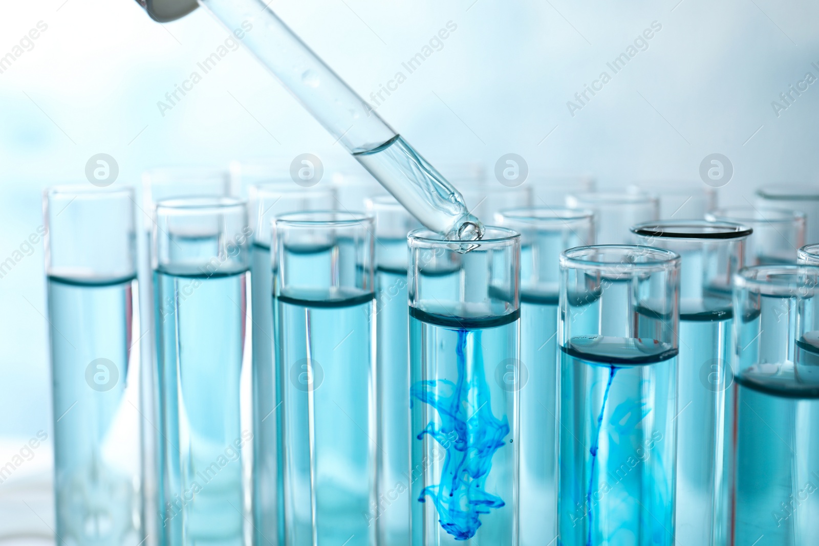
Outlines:
{"label": "bright blue ink swirl billowing below the pipette tip", "polygon": [[425,487],[419,502],[429,495],[441,527],[455,540],[471,539],[481,526],[480,514],[505,506],[500,497],[486,493],[484,485],[492,456],[505,445],[509,421],[506,416],[498,420],[492,414],[480,351],[475,354],[472,377],[467,381],[464,348],[470,334],[480,337],[481,332],[458,331],[456,383],[446,379],[419,381],[410,389],[411,395],[436,408],[441,417],[441,428],[430,422],[418,440],[428,434],[446,449],[441,483]]}

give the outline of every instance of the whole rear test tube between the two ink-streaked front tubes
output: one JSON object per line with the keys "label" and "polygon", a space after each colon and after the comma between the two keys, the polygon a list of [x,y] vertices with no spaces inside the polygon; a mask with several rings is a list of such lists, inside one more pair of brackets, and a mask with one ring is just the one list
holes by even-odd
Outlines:
{"label": "whole rear test tube between the two ink-streaked front tubes", "polygon": [[521,234],[520,544],[557,537],[558,295],[563,250],[594,242],[592,214],[562,208],[504,210]]}

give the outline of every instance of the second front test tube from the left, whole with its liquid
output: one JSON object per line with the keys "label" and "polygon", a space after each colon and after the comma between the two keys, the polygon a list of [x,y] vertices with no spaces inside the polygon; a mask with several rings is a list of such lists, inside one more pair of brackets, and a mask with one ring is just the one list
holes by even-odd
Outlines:
{"label": "second front test tube from the left, whole with its liquid", "polygon": [[[250,228],[243,201],[160,201],[153,229],[164,546],[246,544],[240,404]],[[249,472],[247,472],[249,473]]]}

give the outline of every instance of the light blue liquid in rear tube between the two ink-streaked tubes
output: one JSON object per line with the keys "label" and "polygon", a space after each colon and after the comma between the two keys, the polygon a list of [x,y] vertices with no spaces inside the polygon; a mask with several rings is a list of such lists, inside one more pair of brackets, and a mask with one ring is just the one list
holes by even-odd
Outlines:
{"label": "light blue liquid in rear tube between the two ink-streaked tubes", "polygon": [[[523,291],[520,305],[520,540],[557,536],[557,294]],[[525,382],[524,382],[525,381]]]}

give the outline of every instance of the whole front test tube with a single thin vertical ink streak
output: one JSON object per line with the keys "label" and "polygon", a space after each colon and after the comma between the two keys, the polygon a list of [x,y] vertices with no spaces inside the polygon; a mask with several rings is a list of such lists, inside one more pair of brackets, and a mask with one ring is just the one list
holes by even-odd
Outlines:
{"label": "whole front test tube with a single thin vertical ink streak", "polygon": [[580,246],[560,268],[561,544],[670,546],[680,257]]}

